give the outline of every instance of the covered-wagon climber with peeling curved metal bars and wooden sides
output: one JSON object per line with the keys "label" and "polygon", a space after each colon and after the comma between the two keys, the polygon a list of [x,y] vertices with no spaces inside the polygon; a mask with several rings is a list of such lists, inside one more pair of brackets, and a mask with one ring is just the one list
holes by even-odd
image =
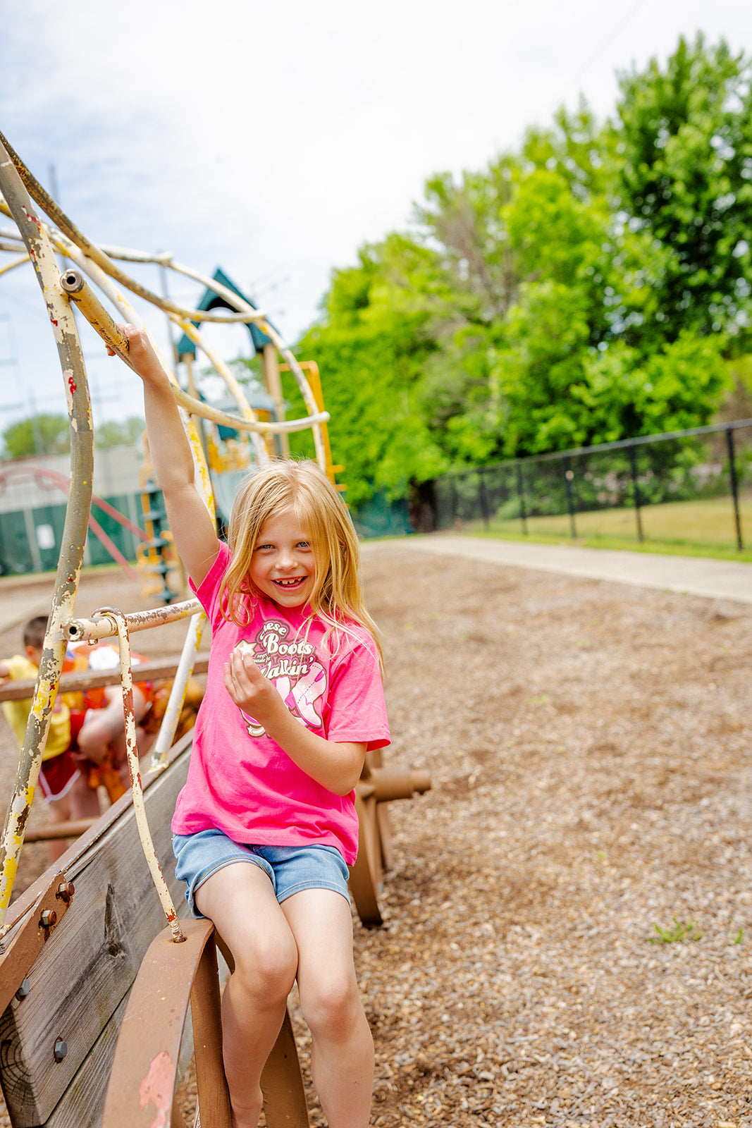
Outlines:
{"label": "covered-wagon climber with peeling curved metal bars and wooden sides", "polygon": [[[60,355],[71,425],[71,474],[51,615],[33,706],[19,757],[14,793],[0,846],[0,1083],[15,1128],[185,1128],[175,1091],[192,1054],[204,1123],[229,1128],[230,1111],[221,1061],[219,1001],[221,938],[207,920],[185,920],[175,908],[176,882],[165,876],[170,857],[169,816],[187,773],[191,733],[175,741],[183,695],[194,670],[203,611],[195,599],[125,615],[103,608],[90,618],[76,615],[76,596],[91,506],[95,442],[91,406],[76,310],[127,362],[127,341],[105,307],[143,327],[129,296],[166,314],[182,331],[184,354],[201,350],[223,380],[235,409],[212,406],[184,390],[170,374],[191,438],[197,474],[210,512],[227,466],[211,466],[196,420],[242,438],[236,469],[246,470],[286,452],[285,437],[310,430],[316,459],[334,482],[318,370],[301,364],[263,311],[229,279],[213,277],[174,262],[169,255],[105,249],[91,243],[38,185],[0,134],[0,211],[16,231],[0,236],[11,257],[7,273],[32,263]],[[56,255],[70,264],[61,272]],[[205,288],[201,308],[185,309],[145,289],[121,265],[158,263]],[[248,403],[228,365],[204,336],[204,323],[250,327],[263,358],[268,418]],[[189,361],[189,358],[188,358]],[[278,379],[287,368],[306,414],[286,420]],[[189,381],[188,381],[189,382]],[[211,455],[211,451],[210,451]],[[220,487],[221,488],[221,487]],[[169,531],[159,514],[151,520],[151,550],[160,556]],[[167,565],[165,565],[167,567]],[[148,770],[140,769],[133,712],[130,636],[185,619],[183,653]],[[25,829],[37,785],[50,717],[71,641],[117,640],[124,726],[132,793],[123,795],[71,849],[10,906]],[[74,678],[76,676],[68,676]],[[381,923],[379,888],[389,864],[387,802],[425,791],[424,772],[384,767],[380,754],[365,764],[356,788],[359,861],[351,876],[364,923]],[[154,828],[153,837],[150,827]],[[145,864],[144,864],[145,860]],[[152,888],[153,887],[153,888]],[[154,896],[153,890],[157,895]],[[167,924],[165,924],[167,922]],[[64,968],[64,975],[61,969]],[[191,1023],[186,1022],[191,1014]],[[306,1094],[290,1019],[283,1025],[264,1075],[267,1128],[309,1123]]]}

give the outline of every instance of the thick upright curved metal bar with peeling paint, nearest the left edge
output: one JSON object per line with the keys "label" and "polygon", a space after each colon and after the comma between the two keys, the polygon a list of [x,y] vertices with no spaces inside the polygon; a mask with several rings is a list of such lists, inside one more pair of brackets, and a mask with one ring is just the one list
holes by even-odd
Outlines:
{"label": "thick upright curved metal bar with peeling paint, nearest the left edge", "polygon": [[76,318],[68,299],[57,285],[60,268],[36,209],[14,168],[11,156],[2,144],[0,144],[0,188],[34,264],[53,326],[71,426],[71,493],[74,499],[65,510],[62,549],[37,688],[26,726],[14,795],[8,808],[0,847],[0,926],[2,926],[18,869],[24,830],[34,800],[42,752],[47,739],[50,717],[65,654],[62,623],[72,614],[83,561],[94,477],[94,430]]}

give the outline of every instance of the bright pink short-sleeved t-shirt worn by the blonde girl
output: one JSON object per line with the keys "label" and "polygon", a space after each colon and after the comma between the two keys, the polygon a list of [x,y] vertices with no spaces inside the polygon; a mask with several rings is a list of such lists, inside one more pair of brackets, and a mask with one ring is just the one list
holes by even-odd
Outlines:
{"label": "bright pink short-sleeved t-shirt worn by the blonde girl", "polygon": [[[242,643],[275,684],[293,716],[326,740],[389,743],[375,644],[360,626],[325,640],[326,625],[307,609],[259,599],[248,626],[222,617],[219,590],[230,562],[220,545],[206,579],[194,589],[212,626],[206,694],[198,710],[185,787],[172,830],[216,828],[254,846],[334,846],[352,865],[357,854],[355,792],[336,795],[317,783],[233,704],[224,663]],[[333,653],[334,651],[334,653]]]}

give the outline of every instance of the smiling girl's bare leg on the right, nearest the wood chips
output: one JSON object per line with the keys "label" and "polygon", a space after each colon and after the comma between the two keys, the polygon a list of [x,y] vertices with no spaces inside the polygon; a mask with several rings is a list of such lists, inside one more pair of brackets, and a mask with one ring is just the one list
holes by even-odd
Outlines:
{"label": "smiling girl's bare leg on the right, nearest the wood chips", "polygon": [[307,889],[282,902],[298,942],[298,989],[311,1031],[311,1075],[329,1128],[366,1128],[373,1091],[373,1039],[353,963],[347,901]]}

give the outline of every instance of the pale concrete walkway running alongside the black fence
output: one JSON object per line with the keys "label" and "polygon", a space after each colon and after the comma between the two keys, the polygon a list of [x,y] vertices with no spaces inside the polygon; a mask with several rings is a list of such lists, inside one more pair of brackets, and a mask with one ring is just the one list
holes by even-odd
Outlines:
{"label": "pale concrete walkway running alongside the black fence", "polygon": [[489,564],[560,572],[586,580],[613,580],[640,588],[678,591],[711,599],[752,603],[752,564],[706,559],[699,556],[658,556],[652,553],[537,545],[433,532],[380,541],[401,552],[465,556]]}

